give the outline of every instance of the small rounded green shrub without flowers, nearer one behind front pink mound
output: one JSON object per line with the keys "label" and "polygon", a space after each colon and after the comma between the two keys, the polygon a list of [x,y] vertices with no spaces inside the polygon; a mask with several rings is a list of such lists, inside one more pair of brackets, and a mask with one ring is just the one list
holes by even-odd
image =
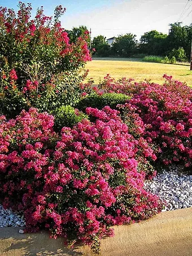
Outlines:
{"label": "small rounded green shrub without flowers, nearer one behind front pink mound", "polygon": [[88,119],[88,115],[78,111],[72,106],[62,106],[53,112],[56,131],[60,131],[63,127],[73,127],[73,125],[81,122],[82,119]]}

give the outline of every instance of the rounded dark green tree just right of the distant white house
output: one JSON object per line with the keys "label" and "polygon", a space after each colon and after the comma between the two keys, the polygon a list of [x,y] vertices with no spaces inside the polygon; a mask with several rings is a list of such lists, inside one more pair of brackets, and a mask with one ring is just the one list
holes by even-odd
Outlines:
{"label": "rounded dark green tree just right of the distant white house", "polygon": [[130,57],[136,52],[136,43],[136,34],[119,35],[112,45],[112,52],[120,57]]}

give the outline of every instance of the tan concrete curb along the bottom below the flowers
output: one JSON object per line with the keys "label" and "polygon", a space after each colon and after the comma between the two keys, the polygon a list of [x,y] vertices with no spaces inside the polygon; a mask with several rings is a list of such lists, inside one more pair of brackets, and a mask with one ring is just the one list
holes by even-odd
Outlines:
{"label": "tan concrete curb along the bottom below the flowers", "polygon": [[[0,255],[93,256],[88,246],[66,249],[63,239],[49,233],[19,233],[0,228]],[[115,227],[115,236],[101,241],[101,256],[191,256],[192,207],[163,212],[149,220]]]}

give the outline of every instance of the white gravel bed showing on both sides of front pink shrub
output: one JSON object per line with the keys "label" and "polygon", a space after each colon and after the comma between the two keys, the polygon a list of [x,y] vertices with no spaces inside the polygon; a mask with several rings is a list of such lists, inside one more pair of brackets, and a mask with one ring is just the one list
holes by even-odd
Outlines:
{"label": "white gravel bed showing on both sides of front pink shrub", "polygon": [[[162,211],[192,207],[192,175],[185,175],[178,167],[159,173],[153,180],[145,181],[145,189],[165,202]],[[24,227],[22,215],[3,209],[0,205],[0,228]]]}

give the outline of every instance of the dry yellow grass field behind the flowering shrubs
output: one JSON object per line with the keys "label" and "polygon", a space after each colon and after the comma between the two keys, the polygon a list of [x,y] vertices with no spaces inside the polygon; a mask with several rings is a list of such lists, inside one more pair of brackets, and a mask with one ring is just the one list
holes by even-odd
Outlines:
{"label": "dry yellow grass field behind the flowering shrubs", "polygon": [[86,64],[88,78],[93,77],[98,84],[107,73],[115,79],[133,78],[136,81],[145,79],[162,84],[163,75],[172,75],[174,80],[186,82],[192,87],[192,71],[189,64],[162,64],[142,62],[141,59],[97,58]]}

